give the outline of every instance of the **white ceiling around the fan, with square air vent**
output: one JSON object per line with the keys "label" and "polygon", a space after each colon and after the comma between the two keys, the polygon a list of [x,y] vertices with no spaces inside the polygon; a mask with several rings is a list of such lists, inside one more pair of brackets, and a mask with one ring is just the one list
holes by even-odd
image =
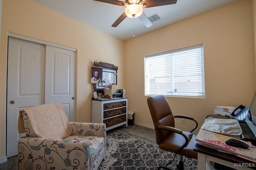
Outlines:
{"label": "white ceiling around the fan, with square air vent", "polygon": [[[94,0],[31,0],[56,12],[90,25],[126,41],[133,38],[132,18],[124,19],[117,27],[111,25],[124,12],[125,7]],[[124,1],[124,0],[123,0]],[[238,0],[178,0],[176,4],[143,8],[146,16],[158,13],[162,19],[146,27],[138,18],[134,19],[135,36],[149,33],[173,23],[209,12],[211,10],[237,2]]]}

